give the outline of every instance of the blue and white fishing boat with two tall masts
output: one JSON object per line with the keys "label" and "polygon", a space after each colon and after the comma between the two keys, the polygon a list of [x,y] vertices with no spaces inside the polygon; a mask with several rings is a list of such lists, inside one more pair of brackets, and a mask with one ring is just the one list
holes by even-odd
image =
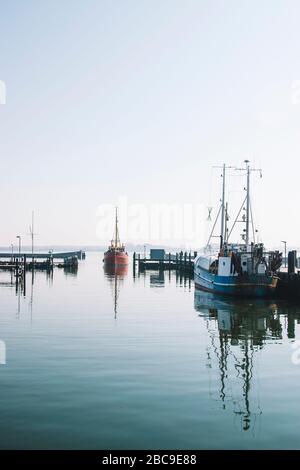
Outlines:
{"label": "blue and white fishing boat with two tall masts", "polygon": [[[250,205],[250,174],[261,171],[250,168],[245,160],[244,170],[247,177],[246,197],[238,212],[231,229],[228,228],[228,203],[225,202],[225,172],[223,165],[223,187],[221,206],[213,225],[205,253],[199,255],[194,262],[195,287],[213,293],[264,298],[275,292],[278,277],[276,272],[282,263],[282,253],[266,251],[263,243],[256,243]],[[242,210],[245,214],[239,220]],[[212,252],[210,240],[213,236],[217,220],[221,214],[220,247]],[[242,243],[230,243],[229,238],[237,222],[244,224]],[[252,224],[252,240],[250,238],[250,222]]]}

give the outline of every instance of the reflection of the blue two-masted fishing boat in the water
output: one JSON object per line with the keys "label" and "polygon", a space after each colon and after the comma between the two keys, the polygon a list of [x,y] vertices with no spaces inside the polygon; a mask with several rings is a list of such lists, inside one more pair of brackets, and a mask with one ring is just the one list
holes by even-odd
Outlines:
{"label": "reflection of the blue two-masted fishing boat in the water", "polygon": [[229,300],[198,289],[194,306],[208,330],[206,365],[210,383],[214,380],[211,397],[221,400],[223,409],[233,409],[247,431],[262,413],[259,351],[282,338],[278,306],[263,300]]}

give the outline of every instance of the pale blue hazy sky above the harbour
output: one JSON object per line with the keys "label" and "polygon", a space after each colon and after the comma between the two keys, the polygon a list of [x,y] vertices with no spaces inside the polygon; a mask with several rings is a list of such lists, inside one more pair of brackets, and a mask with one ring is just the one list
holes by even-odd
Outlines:
{"label": "pale blue hazy sky above the harbour", "polygon": [[118,205],[124,242],[197,248],[213,166],[248,159],[260,239],[300,246],[299,17],[289,0],[0,0],[0,245],[30,243],[32,210],[37,244],[103,245]]}

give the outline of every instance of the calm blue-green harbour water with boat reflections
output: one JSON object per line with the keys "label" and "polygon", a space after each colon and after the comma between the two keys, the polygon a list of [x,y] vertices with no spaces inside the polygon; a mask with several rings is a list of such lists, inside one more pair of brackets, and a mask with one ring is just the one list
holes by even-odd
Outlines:
{"label": "calm blue-green harbour water with boat reflections", "polygon": [[[300,448],[300,305],[175,273],[0,273],[1,448]],[[296,361],[292,361],[292,354]]]}

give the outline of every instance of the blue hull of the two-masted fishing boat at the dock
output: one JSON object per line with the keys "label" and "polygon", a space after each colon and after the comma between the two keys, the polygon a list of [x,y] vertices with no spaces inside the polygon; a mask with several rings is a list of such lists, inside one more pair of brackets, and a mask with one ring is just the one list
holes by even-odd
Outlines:
{"label": "blue hull of the two-masted fishing boat at the dock", "polygon": [[194,273],[195,287],[207,292],[239,297],[272,297],[277,277],[269,275],[218,276],[198,266]]}

